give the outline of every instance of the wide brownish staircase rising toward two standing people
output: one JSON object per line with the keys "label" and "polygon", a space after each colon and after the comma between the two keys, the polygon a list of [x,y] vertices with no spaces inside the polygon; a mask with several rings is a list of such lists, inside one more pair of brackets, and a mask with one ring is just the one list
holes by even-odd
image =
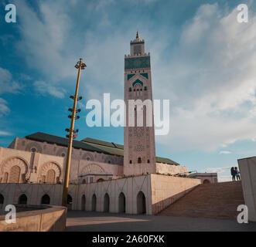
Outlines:
{"label": "wide brownish staircase rising toward two standing people", "polygon": [[236,219],[237,206],[244,204],[241,181],[200,184],[159,215]]}

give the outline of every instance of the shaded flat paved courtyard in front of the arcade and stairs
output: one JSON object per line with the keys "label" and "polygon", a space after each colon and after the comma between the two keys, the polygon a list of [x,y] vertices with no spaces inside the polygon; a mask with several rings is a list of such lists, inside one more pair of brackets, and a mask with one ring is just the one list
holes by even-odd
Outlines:
{"label": "shaded flat paved courtyard in front of the arcade and stairs", "polygon": [[68,232],[256,232],[256,222],[238,224],[231,220],[181,218],[159,215],[126,215],[90,211],[68,211]]}

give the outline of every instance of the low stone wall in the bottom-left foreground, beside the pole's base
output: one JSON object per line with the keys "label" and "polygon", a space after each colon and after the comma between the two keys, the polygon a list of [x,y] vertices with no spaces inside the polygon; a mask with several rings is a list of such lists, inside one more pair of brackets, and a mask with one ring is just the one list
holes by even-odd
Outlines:
{"label": "low stone wall in the bottom-left foreground, beside the pole's base", "polygon": [[[63,232],[65,230],[67,208],[43,205],[23,207],[26,211],[16,213],[16,223],[7,224],[5,215],[0,215],[0,232]],[[27,211],[29,207],[32,211]],[[36,208],[40,209],[36,210]]]}

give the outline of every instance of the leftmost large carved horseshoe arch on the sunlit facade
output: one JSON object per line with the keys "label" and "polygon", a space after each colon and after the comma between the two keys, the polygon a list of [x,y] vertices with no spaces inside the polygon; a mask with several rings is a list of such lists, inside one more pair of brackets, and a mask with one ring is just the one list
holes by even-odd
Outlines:
{"label": "leftmost large carved horseshoe arch on the sunlit facade", "polygon": [[28,175],[28,167],[26,161],[22,160],[20,157],[9,158],[1,167],[2,182],[24,183]]}

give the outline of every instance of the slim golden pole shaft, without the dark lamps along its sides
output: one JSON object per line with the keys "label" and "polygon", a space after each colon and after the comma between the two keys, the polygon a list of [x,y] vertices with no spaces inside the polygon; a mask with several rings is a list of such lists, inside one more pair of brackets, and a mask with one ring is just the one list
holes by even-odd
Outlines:
{"label": "slim golden pole shaft, without the dark lamps along its sides", "polygon": [[80,62],[78,63],[76,66],[76,68],[79,66],[78,75],[77,75],[77,86],[76,86],[76,93],[73,98],[73,113],[72,113],[71,124],[70,124],[70,141],[69,141],[68,150],[67,150],[67,163],[66,163],[65,178],[63,183],[62,205],[64,207],[67,207],[68,185],[70,181],[70,161],[71,161],[71,154],[72,154],[73,132],[74,132],[73,127],[74,127],[76,113],[77,113],[77,95],[78,95],[78,88],[79,88],[79,82],[80,82],[80,73],[81,73],[81,69],[84,69],[85,67],[85,64],[83,64],[83,59],[80,59]]}

